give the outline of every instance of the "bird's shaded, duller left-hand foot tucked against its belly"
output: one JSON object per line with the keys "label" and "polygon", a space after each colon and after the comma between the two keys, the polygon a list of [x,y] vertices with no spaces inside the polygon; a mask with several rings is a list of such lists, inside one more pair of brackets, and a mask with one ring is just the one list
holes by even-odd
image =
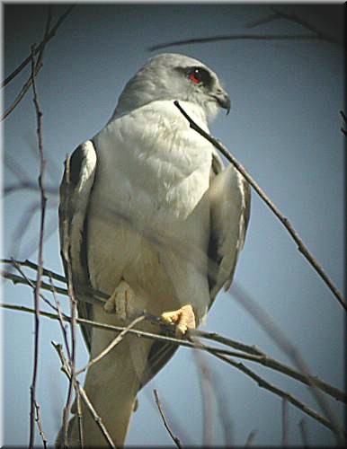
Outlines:
{"label": "bird's shaded, duller left-hand foot tucked against its belly", "polygon": [[120,320],[127,320],[134,312],[135,293],[125,280],[121,280],[120,284],[114,289],[114,292],[103,306],[103,310],[107,313],[116,313]]}

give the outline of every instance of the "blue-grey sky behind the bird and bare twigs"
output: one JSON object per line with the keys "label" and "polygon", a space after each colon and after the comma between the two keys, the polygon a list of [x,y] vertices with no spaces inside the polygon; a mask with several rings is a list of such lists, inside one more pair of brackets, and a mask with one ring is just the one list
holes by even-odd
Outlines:
{"label": "blue-grey sky behind the bird and bare twigs", "polygon": [[[54,19],[65,7],[53,5]],[[323,13],[321,6],[296,8],[307,20],[339,37],[342,7],[330,5]],[[212,134],[227,145],[289,217],[336,286],[343,289],[344,137],[339,115],[343,109],[342,45],[320,40],[233,40],[148,50],[166,41],[227,33],[305,31],[285,20],[245,30],[245,24],[270,13],[269,4],[78,4],[49,42],[37,81],[48,164],[46,184],[57,189],[66,154],[110,119],[124,84],[148,57],[166,51],[195,57],[218,73],[232,101],[230,114],[227,117],[220,114],[211,125]],[[11,73],[29,54],[32,43],[40,42],[46,14],[47,6],[43,4],[4,7],[4,75]],[[334,18],[333,29],[329,26],[330,17]],[[5,88],[4,108],[29,75],[27,68]],[[35,120],[29,92],[4,121],[4,186],[18,181],[14,175],[18,167],[31,181],[37,179]],[[39,199],[38,193],[30,190],[17,190],[4,197],[4,257],[37,260],[39,214],[31,216],[30,211]],[[53,192],[48,202],[44,265],[62,273],[57,205],[58,197]],[[343,309],[255,193],[236,283],[271,315],[314,374],[343,388]],[[67,304],[66,298],[60,300]],[[29,287],[13,286],[7,281],[3,301],[32,306],[33,295]],[[232,295],[218,295],[203,329],[257,345],[272,357],[289,363]],[[67,382],[59,371],[51,340],[62,341],[58,322],[42,318],[38,400],[49,444],[53,444],[60,427],[67,394]],[[32,353],[32,316],[5,311],[6,445],[26,445],[29,441]],[[86,359],[85,345],[79,338],[77,366],[85,365]],[[249,433],[257,430],[254,445],[279,445],[280,398],[221,361],[204,359],[224,398],[232,443],[244,445]],[[317,409],[306,387],[261,366],[245,365]],[[182,444],[201,445],[199,372],[191,351],[185,348],[180,348],[140,392],[139,408],[131,419],[127,443],[171,445],[153,400],[154,388]],[[330,403],[343,418],[341,404],[334,400]],[[218,409],[214,403],[212,407],[213,441],[215,445],[224,445]],[[289,405],[290,445],[301,444],[298,421],[303,417]],[[308,417],[306,423],[311,445],[334,445],[334,436],[328,429]]]}

